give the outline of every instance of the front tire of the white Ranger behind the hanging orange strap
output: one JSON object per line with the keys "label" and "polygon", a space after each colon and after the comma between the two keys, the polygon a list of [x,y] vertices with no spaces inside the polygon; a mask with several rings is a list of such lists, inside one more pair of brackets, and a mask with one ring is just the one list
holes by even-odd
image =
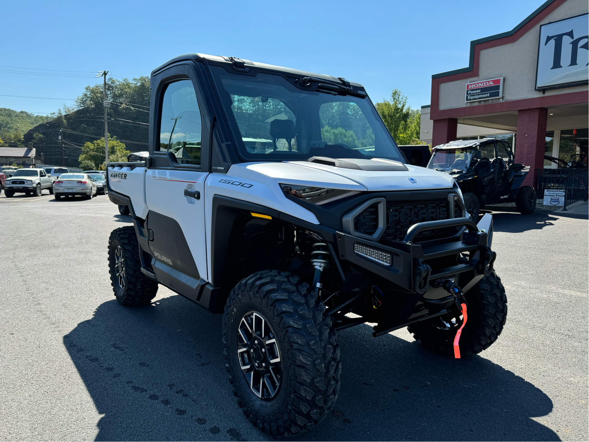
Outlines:
{"label": "front tire of the white Ranger behind the hanging orange strap", "polygon": [[[503,330],[507,318],[507,297],[501,279],[495,272],[485,276],[472,289],[465,293],[466,325],[460,337],[460,354],[473,355],[489,348]],[[451,316],[441,316],[448,329],[439,328],[441,319],[417,322],[409,325],[408,331],[413,338],[421,341],[423,347],[448,356],[454,356],[454,337],[462,319],[457,314],[456,322],[450,321]],[[438,326],[436,326],[438,325]]]}

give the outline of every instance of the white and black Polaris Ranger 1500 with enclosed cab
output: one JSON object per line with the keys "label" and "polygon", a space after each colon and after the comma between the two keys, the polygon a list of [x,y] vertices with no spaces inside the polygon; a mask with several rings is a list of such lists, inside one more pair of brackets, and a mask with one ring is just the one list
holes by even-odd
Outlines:
{"label": "white and black Polaris Ranger 1500 with enclosed cab", "polygon": [[358,83],[182,55],[151,73],[149,153],[128,160],[108,164],[134,224],[108,243],[115,296],[161,284],[223,313],[229,381],[267,434],[329,412],[338,330],[408,326],[455,357],[501,333],[491,215],[475,224],[451,176],[408,164]]}

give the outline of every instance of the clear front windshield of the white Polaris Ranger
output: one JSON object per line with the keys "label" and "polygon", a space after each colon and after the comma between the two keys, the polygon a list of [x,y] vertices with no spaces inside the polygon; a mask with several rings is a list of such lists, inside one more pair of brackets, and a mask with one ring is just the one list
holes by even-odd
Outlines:
{"label": "clear front windshield of the white Polaris Ranger", "polygon": [[[250,160],[309,157],[404,161],[368,98],[300,90],[280,75],[211,66],[239,150]],[[233,117],[233,118],[231,118]]]}

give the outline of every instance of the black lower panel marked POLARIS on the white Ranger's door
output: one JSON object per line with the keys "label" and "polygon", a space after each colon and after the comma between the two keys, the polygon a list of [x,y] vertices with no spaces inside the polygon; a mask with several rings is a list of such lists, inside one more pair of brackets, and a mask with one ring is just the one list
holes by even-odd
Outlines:
{"label": "black lower panel marked POLARIS on the white Ranger's door", "polygon": [[146,225],[147,229],[153,230],[153,240],[149,242],[151,255],[174,271],[195,280],[200,279],[184,233],[176,220],[150,210]]}

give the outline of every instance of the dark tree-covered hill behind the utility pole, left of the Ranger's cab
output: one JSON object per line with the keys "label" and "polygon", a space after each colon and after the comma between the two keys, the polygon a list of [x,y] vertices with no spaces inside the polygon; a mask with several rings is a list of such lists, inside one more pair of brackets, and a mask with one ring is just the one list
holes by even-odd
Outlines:
{"label": "dark tree-covered hill behind the utility pole, left of the Ranger's cab", "polygon": [[[112,103],[108,108],[109,139],[122,141],[130,151],[147,150],[149,77],[109,78],[107,94]],[[37,155],[42,153],[46,164],[59,165],[62,161],[59,134],[62,133],[65,166],[78,166],[80,155],[88,149],[84,144],[104,137],[103,101],[101,83],[87,86],[71,109],[66,108],[52,120],[32,127],[24,134],[23,143],[32,141]]]}

